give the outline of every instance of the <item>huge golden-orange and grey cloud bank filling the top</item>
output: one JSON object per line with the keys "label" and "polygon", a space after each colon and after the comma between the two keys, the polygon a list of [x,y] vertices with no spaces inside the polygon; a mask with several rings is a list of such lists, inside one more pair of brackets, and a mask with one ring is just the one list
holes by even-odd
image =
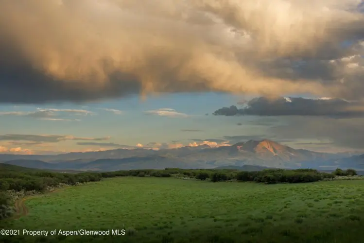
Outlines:
{"label": "huge golden-orange and grey cloud bank filling the top", "polygon": [[1,1],[0,103],[211,90],[359,98],[359,3]]}

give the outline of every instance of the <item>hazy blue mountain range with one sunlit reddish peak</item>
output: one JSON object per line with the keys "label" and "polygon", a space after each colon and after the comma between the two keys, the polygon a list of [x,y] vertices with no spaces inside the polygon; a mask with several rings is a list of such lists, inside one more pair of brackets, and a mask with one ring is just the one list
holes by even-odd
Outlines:
{"label": "hazy blue mountain range with one sunlit reddish peak", "polygon": [[114,149],[59,155],[0,154],[0,162],[38,169],[117,171],[132,169],[210,169],[216,167],[255,165],[269,168],[315,168],[330,170],[340,167],[364,169],[364,155],[319,153],[293,149],[275,141],[249,140],[231,146],[212,148],[208,145],[176,149]]}

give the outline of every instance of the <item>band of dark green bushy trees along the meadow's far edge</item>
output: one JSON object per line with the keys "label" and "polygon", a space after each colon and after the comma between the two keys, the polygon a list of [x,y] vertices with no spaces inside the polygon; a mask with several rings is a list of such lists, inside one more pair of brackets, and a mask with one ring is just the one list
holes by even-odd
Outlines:
{"label": "band of dark green bushy trees along the meadow's far edge", "polygon": [[237,179],[238,181],[256,181],[260,183],[299,183],[313,182],[335,176],[355,175],[356,171],[348,169],[343,171],[336,169],[333,173],[322,173],[313,169],[267,169],[263,171],[247,172],[237,170],[184,170],[177,168],[166,168],[165,170],[130,170],[105,173],[55,173],[40,170],[16,171],[1,170],[0,191],[44,191],[49,187],[56,187],[59,184],[75,185],[90,181],[100,181],[107,177],[120,176],[153,176],[153,177],[190,177],[199,180],[210,180],[212,182]]}

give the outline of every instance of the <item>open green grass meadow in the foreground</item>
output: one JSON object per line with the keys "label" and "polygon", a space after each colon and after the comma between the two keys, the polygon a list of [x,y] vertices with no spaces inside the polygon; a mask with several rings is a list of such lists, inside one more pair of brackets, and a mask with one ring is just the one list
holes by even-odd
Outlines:
{"label": "open green grass meadow in the foreground", "polygon": [[136,230],[127,230],[130,236],[28,236],[27,242],[364,242],[364,180],[262,185],[121,177],[25,204],[29,214],[2,221],[1,228]]}

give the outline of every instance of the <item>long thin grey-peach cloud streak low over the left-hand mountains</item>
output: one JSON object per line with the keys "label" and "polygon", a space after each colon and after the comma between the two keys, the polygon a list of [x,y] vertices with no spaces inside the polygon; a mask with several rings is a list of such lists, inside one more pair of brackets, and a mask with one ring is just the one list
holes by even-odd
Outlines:
{"label": "long thin grey-peach cloud streak low over the left-hand mountains", "polygon": [[103,141],[108,140],[110,137],[105,138],[80,138],[67,135],[25,135],[25,134],[6,134],[0,135],[0,140],[8,141],[32,141],[32,142],[60,142],[65,140],[92,140]]}

